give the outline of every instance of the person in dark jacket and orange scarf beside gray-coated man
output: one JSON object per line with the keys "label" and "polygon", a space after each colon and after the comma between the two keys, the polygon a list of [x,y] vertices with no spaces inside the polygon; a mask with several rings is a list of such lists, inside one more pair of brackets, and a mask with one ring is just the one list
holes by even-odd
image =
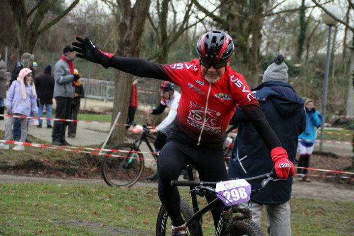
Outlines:
{"label": "person in dark jacket and orange scarf beside gray-coated man", "polygon": [[[81,78],[81,75],[77,71],[77,69],[74,69],[74,75],[79,75]],[[77,114],[79,113],[80,109],[80,100],[82,97],[85,96],[84,92],[84,87],[82,86],[80,79],[77,80],[75,83],[75,93],[74,93],[74,98],[71,100],[71,119],[77,119]],[[76,136],[76,126],[77,122],[69,122],[68,124],[68,138],[75,138]]]}

